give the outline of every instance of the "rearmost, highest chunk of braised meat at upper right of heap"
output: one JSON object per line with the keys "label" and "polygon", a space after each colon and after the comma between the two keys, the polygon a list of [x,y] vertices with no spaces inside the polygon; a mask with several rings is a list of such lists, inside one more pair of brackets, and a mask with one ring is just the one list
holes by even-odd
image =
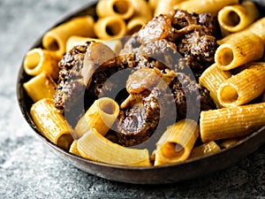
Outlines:
{"label": "rearmost, highest chunk of braised meat at upper right of heap", "polygon": [[[133,52],[137,60],[155,57],[171,69],[188,67],[198,80],[200,73],[214,63],[216,29],[216,19],[209,13],[177,10],[151,19],[125,43],[122,52]],[[182,65],[178,66],[180,58]]]}

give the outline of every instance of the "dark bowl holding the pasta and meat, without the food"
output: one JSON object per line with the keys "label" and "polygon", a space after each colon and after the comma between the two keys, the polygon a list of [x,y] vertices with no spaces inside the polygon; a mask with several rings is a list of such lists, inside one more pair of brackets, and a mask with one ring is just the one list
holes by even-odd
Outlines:
{"label": "dark bowl holding the pasta and meat, without the food", "polygon": [[[254,1],[261,9],[261,13],[265,12],[265,2],[263,0]],[[76,11],[58,22],[54,27],[81,15],[95,16],[95,4],[89,4],[83,9]],[[32,48],[42,47],[42,36],[34,43]],[[246,157],[254,152],[254,150],[261,147],[265,142],[265,126],[258,131],[254,132],[246,137],[243,142],[229,148],[222,149],[215,154],[211,154],[205,157],[195,158],[187,160],[184,163],[176,165],[163,165],[155,167],[133,167],[133,166],[120,166],[120,165],[108,165],[87,160],[82,157],[72,155],[64,149],[58,148],[52,142],[49,142],[36,128],[34,122],[29,114],[32,101],[27,96],[26,91],[23,88],[23,83],[29,80],[30,77],[25,73],[23,65],[21,65],[18,84],[17,95],[19,106],[27,123],[34,129],[34,133],[38,135],[42,142],[45,142],[53,151],[57,153],[59,157],[64,158],[68,163],[78,167],[79,169],[102,177],[108,180],[116,180],[127,183],[135,184],[164,184],[171,182],[178,182],[181,180],[190,180],[202,175],[207,175],[211,172],[223,170],[231,165],[234,165],[239,159]]]}

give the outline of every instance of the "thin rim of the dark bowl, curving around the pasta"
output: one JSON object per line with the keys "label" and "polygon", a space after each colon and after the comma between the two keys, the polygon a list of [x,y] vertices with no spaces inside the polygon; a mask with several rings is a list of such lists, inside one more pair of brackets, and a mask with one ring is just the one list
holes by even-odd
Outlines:
{"label": "thin rim of the dark bowl, curving around the pasta", "polygon": [[[57,23],[55,23],[54,26],[52,27],[57,27],[58,25],[64,23],[65,21],[72,19],[75,16],[80,16],[79,13],[87,13],[88,9],[91,9],[91,7],[95,7],[95,3],[97,1],[93,0],[92,2],[90,2],[89,4],[87,4],[86,6],[80,8],[77,11],[72,11],[71,13],[69,13],[68,15],[66,15],[64,18],[60,19],[57,21]],[[50,28],[52,28],[50,27]],[[50,29],[49,28],[49,29]],[[46,32],[46,31],[45,31]],[[45,33],[44,32],[44,33]],[[43,34],[34,42],[34,44],[30,47],[29,50],[32,50],[35,47],[40,47],[42,46],[42,37]],[[25,57],[23,57],[24,60]],[[122,171],[159,171],[162,169],[167,169],[167,168],[173,168],[178,170],[179,166],[187,166],[187,165],[195,165],[196,163],[204,163],[210,159],[212,159],[213,157],[225,157],[227,153],[235,153],[236,151],[239,151],[240,149],[244,149],[246,148],[246,146],[248,146],[249,142],[254,142],[255,140],[259,141],[257,142],[256,145],[254,146],[248,146],[248,148],[250,148],[250,150],[246,151],[244,154],[240,155],[238,159],[235,159],[232,164],[230,165],[224,165],[224,168],[227,168],[233,164],[235,164],[236,162],[239,161],[240,158],[246,157],[248,155],[250,155],[251,153],[253,153],[256,149],[260,148],[262,144],[265,143],[265,140],[263,139],[259,139],[260,137],[265,137],[265,126],[262,126],[260,129],[258,129],[257,131],[255,131],[252,134],[249,134],[246,136],[246,138],[244,138],[241,142],[235,144],[234,146],[231,146],[230,148],[227,149],[221,149],[219,151],[216,151],[213,154],[208,154],[206,156],[203,157],[194,157],[193,159],[188,159],[184,162],[180,162],[174,165],[159,165],[159,166],[127,166],[127,165],[110,165],[110,164],[106,164],[106,163],[101,163],[101,162],[96,162],[93,160],[89,160],[86,159],[84,157],[79,157],[77,155],[74,155],[64,149],[61,149],[59,147],[57,147],[56,144],[54,144],[53,142],[50,142],[39,130],[38,128],[34,125],[34,121],[31,118],[29,111],[27,111],[27,105],[26,105],[26,101],[27,101],[27,93],[25,91],[25,89],[23,88],[23,83],[26,82],[26,79],[29,77],[29,75],[27,75],[27,73],[25,73],[25,70],[23,68],[23,62],[22,65],[20,65],[19,68],[19,74],[17,76],[17,82],[16,82],[16,93],[17,93],[17,100],[19,103],[19,108],[20,111],[23,115],[23,118],[27,120],[27,124],[29,126],[31,126],[31,128],[34,130],[34,133],[38,135],[38,137],[42,140],[42,142],[44,142],[46,145],[48,145],[51,149],[56,149],[57,152],[64,154],[64,156],[67,157],[71,157],[72,159],[77,159],[87,165],[96,165],[96,166],[100,166],[100,167],[108,167],[108,168],[113,168],[113,169],[117,169],[117,170],[122,170]],[[222,167],[222,166],[221,166]],[[216,172],[218,170],[221,169],[216,169],[214,171],[211,172]],[[207,174],[207,172],[206,172]],[[100,176],[100,175],[98,175]],[[199,175],[200,176],[200,175]],[[195,176],[196,177],[196,176]],[[108,178],[106,178],[108,179]],[[115,180],[115,179],[110,179],[110,180]],[[188,180],[188,179],[186,179]],[[127,182],[125,180],[117,180],[117,181],[124,181]],[[176,180],[178,181],[178,180]],[[138,181],[136,183],[139,183]],[[166,182],[167,183],[167,182]],[[141,184],[141,183],[140,183]],[[144,183],[145,184],[145,183]],[[148,183],[149,184],[149,183]],[[151,183],[153,184],[153,183]],[[156,184],[156,182],[155,182]],[[159,183],[160,184],[160,183]]]}

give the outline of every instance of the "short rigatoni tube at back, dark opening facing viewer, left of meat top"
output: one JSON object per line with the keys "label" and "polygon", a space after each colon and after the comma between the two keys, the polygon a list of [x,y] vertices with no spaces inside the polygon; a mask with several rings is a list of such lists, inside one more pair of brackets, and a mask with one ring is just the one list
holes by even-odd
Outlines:
{"label": "short rigatoni tube at back, dark opening facing viewer, left of meat top", "polygon": [[127,33],[125,20],[117,16],[98,19],[95,22],[95,35],[102,40],[115,39]]}

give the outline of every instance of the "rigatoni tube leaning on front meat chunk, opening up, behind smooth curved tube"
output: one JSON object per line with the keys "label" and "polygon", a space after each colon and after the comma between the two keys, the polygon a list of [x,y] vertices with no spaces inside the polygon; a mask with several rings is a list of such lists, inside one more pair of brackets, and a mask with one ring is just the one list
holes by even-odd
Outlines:
{"label": "rigatoni tube leaning on front meat chunk, opening up, behind smooth curved tube", "polygon": [[118,104],[109,97],[102,97],[95,100],[75,126],[73,135],[74,138],[80,138],[92,128],[95,128],[99,134],[107,134],[110,127],[117,119],[118,113]]}

